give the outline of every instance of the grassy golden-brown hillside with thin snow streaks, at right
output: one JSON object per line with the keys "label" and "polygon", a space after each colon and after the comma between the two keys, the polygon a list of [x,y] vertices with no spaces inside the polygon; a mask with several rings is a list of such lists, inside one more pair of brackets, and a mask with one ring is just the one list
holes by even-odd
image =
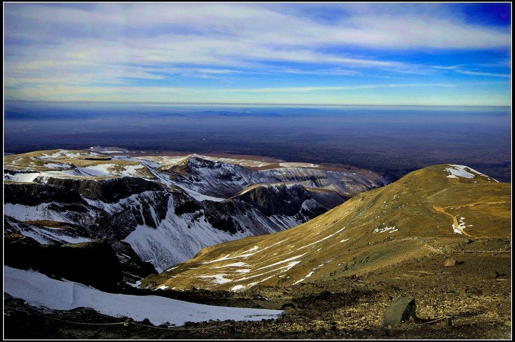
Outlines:
{"label": "grassy golden-brown hillside with thin snow streaks, at right", "polygon": [[[435,165],[417,170],[283,232],[204,248],[194,259],[147,277],[142,286],[286,287],[324,280],[341,271],[345,275],[360,274],[434,255],[441,253],[442,246],[458,248],[469,239],[487,241],[483,249],[491,247],[489,239],[506,239],[509,244],[511,185],[483,175],[449,178],[448,167]],[[506,203],[459,208],[458,219],[465,217],[466,224],[472,225],[465,228],[470,238],[455,233],[452,218],[433,208],[479,202]],[[395,228],[386,230],[387,227]],[[229,266],[235,263],[244,264]]]}

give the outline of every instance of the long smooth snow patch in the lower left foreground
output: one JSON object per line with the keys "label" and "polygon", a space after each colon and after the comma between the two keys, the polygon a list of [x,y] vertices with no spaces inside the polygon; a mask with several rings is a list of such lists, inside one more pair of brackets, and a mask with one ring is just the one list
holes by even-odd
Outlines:
{"label": "long smooth snow patch in the lower left foreground", "polygon": [[102,292],[70,281],[50,279],[38,273],[4,266],[4,291],[29,305],[54,310],[91,307],[112,317],[128,316],[135,321],[148,318],[152,324],[166,322],[181,326],[186,321],[261,320],[276,318],[282,311],[204,305],[160,296],[134,296]]}

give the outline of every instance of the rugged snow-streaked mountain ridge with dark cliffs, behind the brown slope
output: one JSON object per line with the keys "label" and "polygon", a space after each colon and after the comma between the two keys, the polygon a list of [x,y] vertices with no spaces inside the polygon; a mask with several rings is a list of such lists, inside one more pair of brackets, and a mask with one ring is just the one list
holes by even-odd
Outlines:
{"label": "rugged snow-streaked mountain ridge with dark cliffs, behind the brown slope", "polygon": [[51,150],[4,156],[4,165],[11,234],[40,244],[123,241],[158,271],[205,246],[297,226],[387,183],[366,170],[198,155]]}

